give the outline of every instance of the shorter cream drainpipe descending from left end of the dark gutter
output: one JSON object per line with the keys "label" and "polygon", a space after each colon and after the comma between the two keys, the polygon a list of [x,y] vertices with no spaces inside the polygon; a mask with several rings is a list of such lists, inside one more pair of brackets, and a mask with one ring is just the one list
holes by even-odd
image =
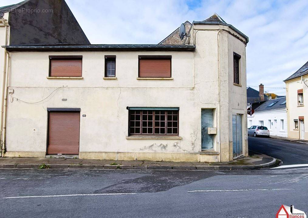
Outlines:
{"label": "shorter cream drainpipe descending from left end of the dark gutter", "polygon": [[[6,50],[5,50],[6,51]],[[10,67],[10,53],[7,53],[7,68],[6,68],[6,79],[4,86],[4,96],[3,98],[3,115],[2,115],[2,157],[5,154],[5,133],[6,133],[6,102],[7,102],[7,88],[8,88],[8,80],[9,80],[9,67]]]}

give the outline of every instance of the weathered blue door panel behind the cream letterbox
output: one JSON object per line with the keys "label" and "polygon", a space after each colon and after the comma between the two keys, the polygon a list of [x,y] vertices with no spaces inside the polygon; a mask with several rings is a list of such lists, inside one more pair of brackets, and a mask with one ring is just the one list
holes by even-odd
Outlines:
{"label": "weathered blue door panel behind the cream letterbox", "polygon": [[213,109],[201,110],[201,150],[213,149],[214,135],[208,134],[208,127],[213,127]]}

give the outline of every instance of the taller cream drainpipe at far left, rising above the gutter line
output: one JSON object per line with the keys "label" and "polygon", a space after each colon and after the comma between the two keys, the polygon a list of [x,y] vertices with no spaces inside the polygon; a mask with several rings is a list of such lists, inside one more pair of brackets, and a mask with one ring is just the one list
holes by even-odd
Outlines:
{"label": "taller cream drainpipe at far left, rising above the gutter line", "polygon": [[[3,25],[5,26],[5,41],[4,45],[7,45],[7,32],[8,32],[8,25],[6,25],[6,20],[2,20]],[[3,98],[4,98],[4,90],[5,90],[5,81],[6,81],[6,61],[7,61],[7,51],[4,49],[4,56],[3,56],[3,72],[2,72],[2,87],[1,87],[1,106],[0,106],[0,141],[2,136],[3,136],[3,131],[2,131],[2,122],[3,122]],[[4,157],[5,153],[5,147],[2,147],[2,143],[0,143],[0,150],[1,154],[0,157]]]}

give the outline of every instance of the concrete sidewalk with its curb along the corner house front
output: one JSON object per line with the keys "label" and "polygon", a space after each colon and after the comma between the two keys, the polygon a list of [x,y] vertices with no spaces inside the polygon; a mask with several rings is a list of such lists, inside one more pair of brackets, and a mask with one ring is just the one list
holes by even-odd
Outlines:
{"label": "concrete sidewalk with its curb along the corner house front", "polygon": [[279,160],[253,154],[230,162],[123,161],[70,158],[0,158],[0,168],[69,169],[253,169],[277,164]]}

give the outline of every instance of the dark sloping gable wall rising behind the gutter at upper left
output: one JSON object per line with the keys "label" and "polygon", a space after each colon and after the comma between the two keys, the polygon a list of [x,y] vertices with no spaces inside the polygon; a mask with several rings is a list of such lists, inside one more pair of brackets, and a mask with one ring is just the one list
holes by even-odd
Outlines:
{"label": "dark sloping gable wall rising behind the gutter at upper left", "polygon": [[30,0],[19,9],[9,13],[10,45],[90,44],[64,0]]}

